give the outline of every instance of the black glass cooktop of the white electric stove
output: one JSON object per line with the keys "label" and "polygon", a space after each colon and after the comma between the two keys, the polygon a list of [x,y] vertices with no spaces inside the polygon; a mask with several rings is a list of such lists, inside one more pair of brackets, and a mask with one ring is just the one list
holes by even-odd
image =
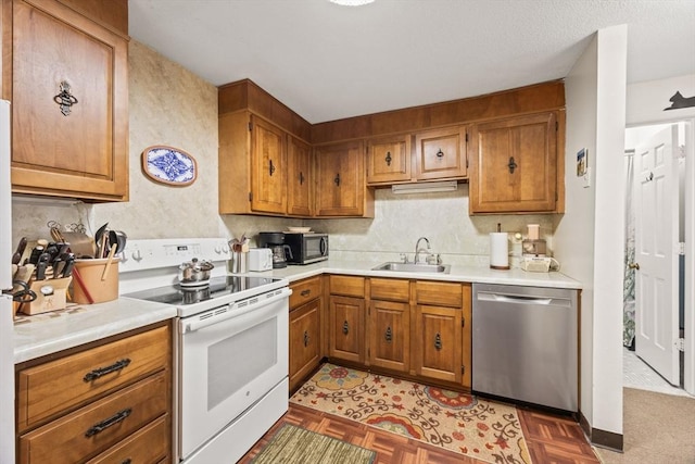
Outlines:
{"label": "black glass cooktop of the white electric stove", "polygon": [[[281,279],[273,277],[223,276],[211,278],[208,285],[190,287],[176,284],[136,291],[134,293],[126,293],[123,297],[173,304],[176,306],[186,306],[189,304],[197,304],[204,301],[232,296],[235,293],[248,293],[247,290],[253,290],[254,288],[278,283],[280,280]],[[240,297],[242,296],[240,294]]]}

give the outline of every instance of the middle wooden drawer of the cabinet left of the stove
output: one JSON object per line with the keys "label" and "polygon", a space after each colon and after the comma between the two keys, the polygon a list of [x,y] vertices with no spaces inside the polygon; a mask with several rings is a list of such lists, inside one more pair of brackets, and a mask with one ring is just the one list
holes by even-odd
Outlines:
{"label": "middle wooden drawer of the cabinet left of the stove", "polygon": [[105,451],[166,412],[167,378],[161,372],[20,437],[20,462],[77,463]]}

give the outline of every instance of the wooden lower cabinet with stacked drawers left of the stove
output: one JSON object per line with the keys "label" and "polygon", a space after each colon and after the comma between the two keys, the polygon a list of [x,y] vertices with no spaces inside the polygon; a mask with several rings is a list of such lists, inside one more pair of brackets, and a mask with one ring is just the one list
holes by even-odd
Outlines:
{"label": "wooden lower cabinet with stacked drawers left of the stove", "polygon": [[170,324],[17,365],[16,398],[18,463],[170,461]]}

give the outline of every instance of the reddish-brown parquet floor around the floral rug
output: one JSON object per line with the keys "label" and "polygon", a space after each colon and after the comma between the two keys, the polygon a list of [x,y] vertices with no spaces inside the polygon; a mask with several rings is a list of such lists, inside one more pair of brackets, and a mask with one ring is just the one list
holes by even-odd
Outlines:
{"label": "reddish-brown parquet floor around the floral rug", "polygon": [[[579,425],[566,417],[519,409],[521,427],[534,464],[579,464],[599,461]],[[377,452],[375,464],[482,464],[472,457],[412,440],[354,421],[290,403],[289,411],[240,461],[248,464],[283,424],[337,438]],[[309,463],[306,463],[309,464]]]}

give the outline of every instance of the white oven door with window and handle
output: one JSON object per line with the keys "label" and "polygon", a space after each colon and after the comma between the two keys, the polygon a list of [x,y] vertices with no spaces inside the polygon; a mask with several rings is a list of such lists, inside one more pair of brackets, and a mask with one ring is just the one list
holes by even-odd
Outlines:
{"label": "white oven door with window and handle", "polygon": [[229,424],[288,376],[290,293],[283,288],[243,308],[233,303],[180,319],[181,459],[223,429],[225,440],[243,434],[243,427]]}

